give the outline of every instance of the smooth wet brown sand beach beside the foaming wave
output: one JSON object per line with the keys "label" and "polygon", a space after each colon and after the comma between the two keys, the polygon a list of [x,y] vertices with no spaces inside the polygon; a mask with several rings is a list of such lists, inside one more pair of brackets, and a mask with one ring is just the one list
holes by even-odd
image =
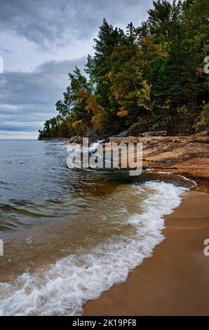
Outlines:
{"label": "smooth wet brown sand beach beside the foaming wave", "polygon": [[84,305],[84,315],[209,315],[209,194],[187,192],[166,216],[166,239],[126,282]]}

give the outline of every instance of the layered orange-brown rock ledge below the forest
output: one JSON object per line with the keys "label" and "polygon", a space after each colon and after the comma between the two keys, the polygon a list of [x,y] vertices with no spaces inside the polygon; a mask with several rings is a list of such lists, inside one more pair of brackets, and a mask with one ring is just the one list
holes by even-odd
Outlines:
{"label": "layered orange-brown rock ledge below the forest", "polygon": [[110,143],[142,143],[143,166],[194,178],[209,189],[209,128],[193,136],[111,138]]}

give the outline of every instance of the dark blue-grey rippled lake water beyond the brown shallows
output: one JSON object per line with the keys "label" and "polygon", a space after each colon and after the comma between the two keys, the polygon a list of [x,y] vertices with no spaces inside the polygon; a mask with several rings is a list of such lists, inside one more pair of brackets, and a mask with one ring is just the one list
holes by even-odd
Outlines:
{"label": "dark blue-grey rippled lake water beyond the brown shallows", "polygon": [[118,185],[107,172],[67,169],[66,149],[63,142],[0,140],[1,232],[88,211]]}

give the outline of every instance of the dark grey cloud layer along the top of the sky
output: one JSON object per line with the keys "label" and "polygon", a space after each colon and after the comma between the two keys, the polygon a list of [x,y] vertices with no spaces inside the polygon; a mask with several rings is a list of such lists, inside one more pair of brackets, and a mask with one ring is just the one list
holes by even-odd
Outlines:
{"label": "dark grey cloud layer along the top of the sky", "polygon": [[[152,0],[0,0],[1,31],[13,30],[43,48],[86,39],[105,17],[140,24]],[[4,2],[4,4],[2,4]]]}

